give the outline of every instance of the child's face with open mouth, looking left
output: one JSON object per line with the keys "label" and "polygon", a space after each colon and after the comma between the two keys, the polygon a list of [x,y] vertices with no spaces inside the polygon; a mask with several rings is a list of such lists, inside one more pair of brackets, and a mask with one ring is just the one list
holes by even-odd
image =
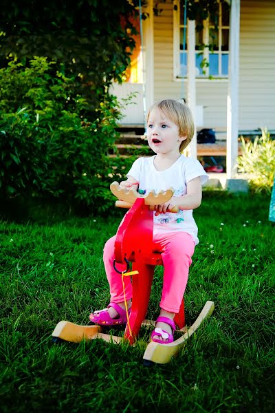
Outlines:
{"label": "child's face with open mouth, looking left", "polygon": [[186,136],[179,136],[179,128],[166,114],[155,108],[151,111],[146,131],[148,144],[155,153],[179,153]]}

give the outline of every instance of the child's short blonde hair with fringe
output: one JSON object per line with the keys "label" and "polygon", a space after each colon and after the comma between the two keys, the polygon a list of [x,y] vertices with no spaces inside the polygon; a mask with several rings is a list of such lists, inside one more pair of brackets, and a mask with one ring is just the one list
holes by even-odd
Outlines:
{"label": "child's short blonde hair with fringe", "polygon": [[148,118],[153,109],[162,111],[177,127],[179,128],[179,136],[186,136],[186,139],[181,142],[179,151],[182,152],[189,145],[195,132],[194,118],[190,107],[185,103],[175,99],[159,100],[154,103],[148,111]]}

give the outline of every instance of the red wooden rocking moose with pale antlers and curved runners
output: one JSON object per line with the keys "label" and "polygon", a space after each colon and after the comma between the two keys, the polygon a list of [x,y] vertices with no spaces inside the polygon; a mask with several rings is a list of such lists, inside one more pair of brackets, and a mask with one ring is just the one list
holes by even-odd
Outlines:
{"label": "red wooden rocking moose with pale antlers and curved runners", "polygon": [[[153,274],[156,265],[162,265],[162,255],[153,251],[153,207],[163,204],[173,196],[173,189],[161,193],[150,192],[140,195],[131,189],[127,191],[120,189],[118,182],[111,184],[111,191],[119,200],[116,202],[118,207],[130,208],[126,212],[115,240],[115,260],[114,268],[118,271],[115,264],[125,264],[125,271],[118,273],[131,275],[133,287],[133,299],[131,314],[126,324],[124,337],[104,334],[100,326],[79,326],[69,321],[60,321],[54,332],[53,341],[65,340],[78,343],[82,340],[103,339],[104,341],[120,343],[122,340],[135,344],[140,327],[146,324],[154,324],[153,321],[146,321],[145,316],[148,308],[148,301],[151,293]],[[175,211],[176,212],[176,211]],[[132,271],[129,271],[130,264]],[[207,301],[203,310],[195,323],[187,330],[184,318],[184,299],[181,303],[179,313],[175,315],[175,324],[179,327],[177,332],[183,335],[173,343],[161,344],[151,341],[144,352],[144,364],[149,363],[168,363],[170,359],[181,350],[184,343],[200,326],[203,319],[212,314],[214,303]]]}

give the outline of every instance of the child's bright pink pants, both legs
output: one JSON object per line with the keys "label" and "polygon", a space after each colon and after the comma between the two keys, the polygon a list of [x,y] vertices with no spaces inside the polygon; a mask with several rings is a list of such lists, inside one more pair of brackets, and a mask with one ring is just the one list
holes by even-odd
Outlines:
{"label": "child's bright pink pants, both legs", "polygon": [[[110,285],[111,301],[124,301],[122,277],[113,268],[115,236],[111,237],[104,246],[103,261],[107,279]],[[184,232],[162,233],[153,236],[153,249],[162,253],[164,264],[164,282],[160,308],[170,313],[179,313],[182,297],[188,279],[191,257],[194,253],[195,242],[191,235]],[[125,265],[116,264],[120,271]],[[132,298],[130,277],[124,277],[126,299]]]}

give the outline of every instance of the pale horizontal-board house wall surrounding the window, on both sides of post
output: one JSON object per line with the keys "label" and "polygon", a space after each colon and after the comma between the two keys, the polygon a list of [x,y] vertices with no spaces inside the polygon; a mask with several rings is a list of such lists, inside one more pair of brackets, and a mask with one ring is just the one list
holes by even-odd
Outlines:
{"label": "pale horizontal-board house wall surrounding the window, on both sides of post", "polygon": [[[173,78],[173,5],[159,3],[154,17],[155,100],[186,96],[186,81]],[[275,129],[275,1],[241,0],[239,129]],[[204,127],[226,128],[228,81],[197,79]]]}

